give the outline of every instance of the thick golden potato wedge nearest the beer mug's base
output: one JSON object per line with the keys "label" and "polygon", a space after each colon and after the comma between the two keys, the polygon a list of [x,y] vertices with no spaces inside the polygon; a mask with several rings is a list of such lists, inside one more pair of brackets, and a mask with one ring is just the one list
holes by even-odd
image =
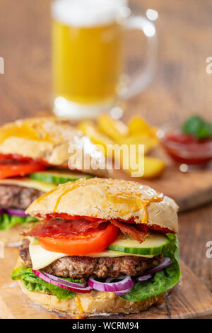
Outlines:
{"label": "thick golden potato wedge nearest the beer mug's base", "polygon": [[128,135],[127,126],[120,120],[115,120],[110,115],[102,113],[97,119],[98,130],[110,137],[114,142],[124,140]]}

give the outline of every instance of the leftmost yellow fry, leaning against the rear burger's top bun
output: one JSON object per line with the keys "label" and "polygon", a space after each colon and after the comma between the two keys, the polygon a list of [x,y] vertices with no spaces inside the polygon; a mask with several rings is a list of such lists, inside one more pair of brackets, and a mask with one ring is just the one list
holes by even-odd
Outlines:
{"label": "leftmost yellow fry, leaning against the rear burger's top bun", "polygon": [[[91,142],[98,145],[98,148],[103,154],[107,154],[107,145],[112,145],[113,141],[109,137],[102,134],[98,128],[89,120],[81,121],[78,124],[78,130],[81,130],[84,135],[90,137]],[[102,146],[102,149],[100,148]]]}

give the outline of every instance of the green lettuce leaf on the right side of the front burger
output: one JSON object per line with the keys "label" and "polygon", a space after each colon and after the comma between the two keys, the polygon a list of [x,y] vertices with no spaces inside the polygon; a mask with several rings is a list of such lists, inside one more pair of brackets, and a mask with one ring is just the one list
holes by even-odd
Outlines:
{"label": "green lettuce leaf on the right side of the front burger", "polygon": [[172,259],[172,264],[156,272],[153,278],[136,283],[135,286],[131,288],[130,292],[120,296],[121,298],[131,302],[140,302],[141,300],[146,300],[146,298],[164,293],[179,282],[180,267],[177,235],[169,233],[166,234],[166,236],[169,238],[170,243],[163,255],[169,256]]}

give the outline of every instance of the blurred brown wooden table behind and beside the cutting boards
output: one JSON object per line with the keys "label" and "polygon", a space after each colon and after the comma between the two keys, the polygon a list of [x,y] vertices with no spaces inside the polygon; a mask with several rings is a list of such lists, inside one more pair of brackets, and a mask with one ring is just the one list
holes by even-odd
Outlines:
{"label": "blurred brown wooden table behind and beside the cutting boards", "polygon": [[[0,0],[1,123],[51,109],[49,2]],[[159,65],[151,86],[126,103],[124,118],[137,113],[155,125],[191,113],[211,118],[212,74],[206,74],[206,57],[212,56],[211,0],[130,2],[134,13],[145,15],[148,8],[159,13]],[[135,33],[132,47],[137,39]],[[180,215],[179,227],[182,259],[212,291],[212,259],[206,257],[212,205]]]}

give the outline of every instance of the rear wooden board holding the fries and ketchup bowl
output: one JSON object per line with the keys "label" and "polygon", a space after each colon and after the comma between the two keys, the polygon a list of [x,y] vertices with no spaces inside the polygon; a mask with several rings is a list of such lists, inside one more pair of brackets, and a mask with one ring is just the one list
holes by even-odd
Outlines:
{"label": "rear wooden board holding the fries and ketchup bowl", "polygon": [[155,156],[167,163],[167,168],[159,178],[131,178],[124,171],[118,170],[114,171],[114,177],[139,181],[165,193],[175,199],[180,212],[212,202],[212,164],[207,169],[183,173],[179,171],[179,166],[166,156],[162,148],[155,149]]}

